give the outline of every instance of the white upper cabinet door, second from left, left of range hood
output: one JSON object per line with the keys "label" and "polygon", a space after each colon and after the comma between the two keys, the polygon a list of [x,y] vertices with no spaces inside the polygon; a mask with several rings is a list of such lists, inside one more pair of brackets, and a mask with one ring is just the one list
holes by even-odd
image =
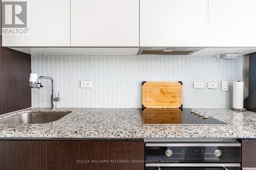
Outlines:
{"label": "white upper cabinet door, second from left, left of range hood", "polygon": [[139,0],[71,0],[71,46],[139,46]]}

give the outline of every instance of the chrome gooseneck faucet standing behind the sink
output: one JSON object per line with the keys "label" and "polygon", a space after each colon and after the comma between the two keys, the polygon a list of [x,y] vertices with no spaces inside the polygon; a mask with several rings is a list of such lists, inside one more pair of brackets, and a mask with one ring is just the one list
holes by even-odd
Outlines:
{"label": "chrome gooseneck faucet standing behind the sink", "polygon": [[41,88],[44,87],[41,85],[41,79],[47,79],[47,80],[51,80],[52,82],[52,94],[51,94],[51,110],[55,110],[55,102],[59,102],[60,101],[60,97],[59,97],[59,92],[58,92],[58,97],[55,97],[54,94],[54,89],[53,89],[53,78],[51,77],[46,77],[46,76],[40,76],[37,80],[37,82],[29,82],[29,87],[31,88]]}

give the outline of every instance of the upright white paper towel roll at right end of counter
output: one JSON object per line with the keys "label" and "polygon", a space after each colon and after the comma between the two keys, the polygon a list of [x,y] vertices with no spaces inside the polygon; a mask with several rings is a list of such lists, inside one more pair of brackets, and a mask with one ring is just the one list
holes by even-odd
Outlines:
{"label": "upright white paper towel roll at right end of counter", "polygon": [[244,108],[244,82],[233,83],[233,108]]}

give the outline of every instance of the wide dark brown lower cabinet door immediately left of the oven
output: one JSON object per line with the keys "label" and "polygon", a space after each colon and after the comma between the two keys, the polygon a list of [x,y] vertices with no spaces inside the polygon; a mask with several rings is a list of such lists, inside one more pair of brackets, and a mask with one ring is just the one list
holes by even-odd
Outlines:
{"label": "wide dark brown lower cabinet door immediately left of the oven", "polygon": [[143,141],[50,141],[47,169],[143,170]]}

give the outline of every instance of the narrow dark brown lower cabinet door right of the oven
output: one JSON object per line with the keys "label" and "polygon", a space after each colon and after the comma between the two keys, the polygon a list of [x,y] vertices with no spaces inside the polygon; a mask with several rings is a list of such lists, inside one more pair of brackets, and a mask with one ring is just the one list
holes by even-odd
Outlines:
{"label": "narrow dark brown lower cabinet door right of the oven", "polygon": [[256,168],[256,140],[242,141],[242,167]]}

